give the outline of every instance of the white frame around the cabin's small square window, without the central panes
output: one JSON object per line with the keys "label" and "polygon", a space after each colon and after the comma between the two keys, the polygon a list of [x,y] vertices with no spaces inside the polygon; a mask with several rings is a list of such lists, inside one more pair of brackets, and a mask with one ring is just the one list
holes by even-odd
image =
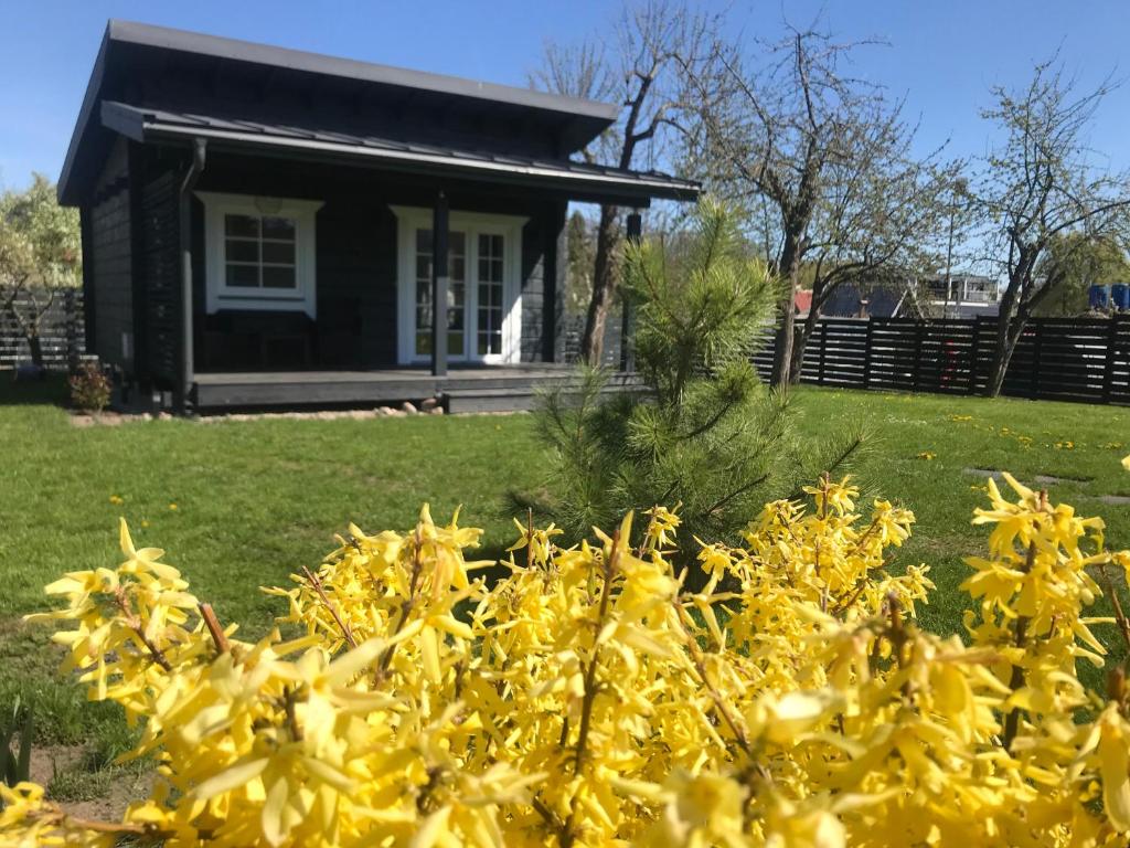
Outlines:
{"label": "white frame around the cabin's small square window, without the central panes", "polygon": [[[205,291],[208,314],[221,309],[305,312],[318,318],[316,235],[314,219],[321,200],[198,191],[205,205]],[[225,215],[278,216],[295,223],[293,289],[228,286],[225,269]]]}

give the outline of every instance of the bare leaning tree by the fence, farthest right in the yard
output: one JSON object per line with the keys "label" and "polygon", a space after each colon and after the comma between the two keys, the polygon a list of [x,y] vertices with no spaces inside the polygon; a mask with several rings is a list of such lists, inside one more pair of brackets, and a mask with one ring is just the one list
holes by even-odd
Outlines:
{"label": "bare leaning tree by the fence, farthest right in the yard", "polygon": [[1033,310],[1072,272],[1075,253],[1102,241],[1127,241],[1127,178],[1097,167],[1086,141],[1112,87],[1106,81],[1077,94],[1075,81],[1053,59],[1036,66],[1023,90],[994,88],[997,103],[982,113],[1003,131],[977,189],[985,246],[1005,280],[986,384],[990,397],[1000,393]]}

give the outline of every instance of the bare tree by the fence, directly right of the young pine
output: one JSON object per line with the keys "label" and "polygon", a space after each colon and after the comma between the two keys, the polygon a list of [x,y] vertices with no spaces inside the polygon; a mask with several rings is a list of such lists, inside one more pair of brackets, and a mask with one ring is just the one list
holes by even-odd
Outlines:
{"label": "bare tree by the fence, directly right of the young pine", "polygon": [[[785,282],[772,378],[783,386],[799,371],[820,309],[838,286],[916,262],[937,226],[933,199],[949,173],[936,155],[911,155],[914,128],[901,103],[841,70],[857,44],[790,27],[784,40],[759,46],[749,57],[740,44],[718,40],[683,64],[686,101],[702,119],[701,136],[689,140],[701,148],[703,176],[760,213],[757,228]],[[802,276],[812,279],[812,308],[797,332]]]}

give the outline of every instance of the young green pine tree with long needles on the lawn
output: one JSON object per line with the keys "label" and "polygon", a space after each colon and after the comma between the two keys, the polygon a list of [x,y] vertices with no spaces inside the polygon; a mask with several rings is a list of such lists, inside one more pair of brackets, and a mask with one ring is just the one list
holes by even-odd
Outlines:
{"label": "young green pine tree with long needles on the lawn", "polygon": [[[686,538],[734,544],[762,504],[858,459],[861,432],[828,422],[827,438],[801,438],[788,396],[758,379],[750,356],[780,284],[753,258],[732,210],[703,200],[686,232],[628,245],[623,285],[647,403],[605,392],[600,372],[547,393],[537,423],[555,496],[520,494],[521,505],[576,537],[631,510],[678,503]],[[693,565],[695,552],[681,553],[676,564]]]}

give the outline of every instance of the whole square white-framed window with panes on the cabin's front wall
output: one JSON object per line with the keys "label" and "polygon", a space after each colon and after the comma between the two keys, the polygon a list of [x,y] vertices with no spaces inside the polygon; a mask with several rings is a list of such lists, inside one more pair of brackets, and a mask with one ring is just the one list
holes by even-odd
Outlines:
{"label": "whole square white-framed window with panes on the cabin's front wall", "polygon": [[198,191],[205,204],[208,313],[305,312],[316,318],[314,218],[320,200]]}

